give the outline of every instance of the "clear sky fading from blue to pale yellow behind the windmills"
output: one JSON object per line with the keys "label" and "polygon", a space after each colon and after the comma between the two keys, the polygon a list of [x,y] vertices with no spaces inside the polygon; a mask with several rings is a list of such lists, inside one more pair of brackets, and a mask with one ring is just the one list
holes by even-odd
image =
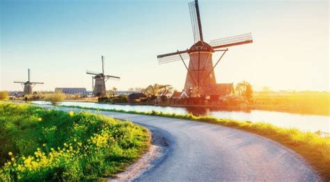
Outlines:
{"label": "clear sky fading from blue to pale yellow behind the windmills", "polygon": [[[91,75],[120,76],[107,89],[171,84],[182,90],[181,62],[157,55],[194,43],[188,1],[0,0],[0,90],[42,81],[34,90],[82,87]],[[214,69],[218,83],[255,90],[329,91],[329,1],[198,1],[205,42],[251,32],[253,44],[229,47]],[[213,61],[219,58],[214,53]]]}

